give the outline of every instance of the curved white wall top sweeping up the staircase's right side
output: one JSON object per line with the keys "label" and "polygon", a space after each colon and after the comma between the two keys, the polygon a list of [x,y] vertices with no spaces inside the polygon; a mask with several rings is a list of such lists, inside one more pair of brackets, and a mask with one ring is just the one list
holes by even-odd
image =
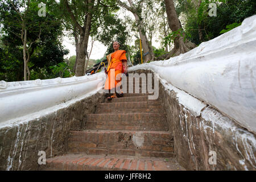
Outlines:
{"label": "curved white wall top sweeping up the staircase's right side", "polygon": [[129,71],[137,69],[151,69],[256,133],[256,15],[187,53]]}

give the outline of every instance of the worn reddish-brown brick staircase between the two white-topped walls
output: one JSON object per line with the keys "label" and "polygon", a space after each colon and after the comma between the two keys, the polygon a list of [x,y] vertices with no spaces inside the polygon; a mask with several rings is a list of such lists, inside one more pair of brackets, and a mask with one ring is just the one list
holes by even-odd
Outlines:
{"label": "worn reddish-brown brick staircase between the two white-topped walls", "polygon": [[68,154],[47,159],[43,169],[184,170],[173,158],[174,140],[167,130],[163,106],[148,100],[148,93],[105,99],[87,115],[86,130],[70,131]]}

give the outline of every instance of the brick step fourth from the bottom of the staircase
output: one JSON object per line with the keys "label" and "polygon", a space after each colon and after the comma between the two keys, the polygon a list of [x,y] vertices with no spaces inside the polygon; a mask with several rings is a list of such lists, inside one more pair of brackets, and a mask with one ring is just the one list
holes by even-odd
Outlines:
{"label": "brick step fourth from the bottom of the staircase", "polygon": [[[127,97],[126,97],[127,98]],[[100,103],[96,113],[163,113],[164,108],[158,101]]]}

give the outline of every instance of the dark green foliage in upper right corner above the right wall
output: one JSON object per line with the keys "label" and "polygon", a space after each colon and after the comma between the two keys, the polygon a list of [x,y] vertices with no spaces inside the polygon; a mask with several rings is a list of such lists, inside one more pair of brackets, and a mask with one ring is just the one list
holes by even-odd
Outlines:
{"label": "dark green foliage in upper right corner above the right wall", "polygon": [[[254,0],[202,0],[199,7],[199,1],[176,0],[176,2],[177,13],[185,15],[183,27],[185,33],[191,34],[187,38],[197,45],[201,43],[199,30],[203,34],[202,41],[214,39],[221,35],[220,32],[226,29],[226,26],[234,22],[242,22],[256,13]],[[216,3],[217,16],[208,15],[209,3]]]}

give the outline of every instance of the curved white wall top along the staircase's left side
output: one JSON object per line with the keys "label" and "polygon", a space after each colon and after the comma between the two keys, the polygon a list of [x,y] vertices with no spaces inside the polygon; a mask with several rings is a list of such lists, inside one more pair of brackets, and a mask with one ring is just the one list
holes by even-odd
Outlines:
{"label": "curved white wall top along the staircase's left side", "polygon": [[0,126],[6,121],[102,90],[105,73],[90,76],[0,82]]}

